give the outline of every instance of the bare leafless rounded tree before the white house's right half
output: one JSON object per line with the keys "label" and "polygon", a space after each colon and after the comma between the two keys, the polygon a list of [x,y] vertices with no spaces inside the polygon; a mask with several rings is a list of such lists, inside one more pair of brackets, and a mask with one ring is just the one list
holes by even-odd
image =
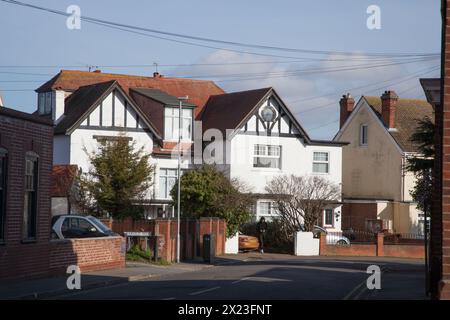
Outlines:
{"label": "bare leafless rounded tree before the white house's right half", "polygon": [[266,191],[275,199],[286,236],[302,226],[312,231],[326,205],[341,197],[340,187],[320,176],[277,176],[266,185]]}

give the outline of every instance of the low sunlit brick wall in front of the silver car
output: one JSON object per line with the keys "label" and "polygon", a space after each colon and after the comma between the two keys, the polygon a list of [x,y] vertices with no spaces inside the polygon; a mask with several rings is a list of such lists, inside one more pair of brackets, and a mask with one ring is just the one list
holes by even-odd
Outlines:
{"label": "low sunlit brick wall in front of the silver car", "polygon": [[49,270],[65,273],[69,265],[82,272],[125,267],[125,239],[122,237],[52,240]]}

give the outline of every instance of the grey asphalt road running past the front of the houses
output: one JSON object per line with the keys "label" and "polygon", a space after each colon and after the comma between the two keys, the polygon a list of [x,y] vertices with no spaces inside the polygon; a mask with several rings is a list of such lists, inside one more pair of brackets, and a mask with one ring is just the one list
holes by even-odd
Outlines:
{"label": "grey asphalt road running past the front of the houses", "polygon": [[[378,265],[381,289],[367,289]],[[425,299],[423,261],[245,254],[199,271],[80,291],[54,299]]]}

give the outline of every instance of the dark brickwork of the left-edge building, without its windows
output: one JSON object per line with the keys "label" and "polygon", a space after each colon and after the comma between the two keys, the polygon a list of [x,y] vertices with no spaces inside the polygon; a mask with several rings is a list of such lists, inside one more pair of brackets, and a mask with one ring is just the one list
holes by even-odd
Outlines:
{"label": "dark brickwork of the left-edge building, without its windows", "polygon": [[[8,151],[4,242],[0,244],[0,280],[45,276],[49,264],[50,176],[53,127],[29,114],[0,108],[0,147]],[[36,240],[22,243],[25,153],[39,155]]]}

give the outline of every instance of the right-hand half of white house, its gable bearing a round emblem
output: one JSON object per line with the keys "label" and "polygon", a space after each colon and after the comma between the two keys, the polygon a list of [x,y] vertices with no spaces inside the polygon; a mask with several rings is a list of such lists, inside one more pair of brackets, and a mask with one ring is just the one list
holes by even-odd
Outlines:
{"label": "right-hand half of white house, its gable bearing a round emblem", "polygon": [[[311,139],[273,88],[225,93],[209,99],[203,130],[218,129],[227,141],[224,171],[255,195],[255,219],[276,216],[266,184],[277,175],[320,175],[341,184],[345,142]],[[322,226],[341,229],[340,201],[323,212]]]}

